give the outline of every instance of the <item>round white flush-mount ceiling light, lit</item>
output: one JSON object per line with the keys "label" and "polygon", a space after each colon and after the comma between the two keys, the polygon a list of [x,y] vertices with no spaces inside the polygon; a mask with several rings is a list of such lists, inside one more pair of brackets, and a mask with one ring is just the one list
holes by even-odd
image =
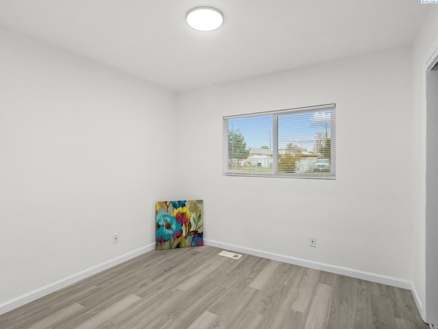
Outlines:
{"label": "round white flush-mount ceiling light, lit", "polygon": [[188,11],[185,21],[192,29],[213,31],[222,25],[224,15],[213,7],[196,7]]}

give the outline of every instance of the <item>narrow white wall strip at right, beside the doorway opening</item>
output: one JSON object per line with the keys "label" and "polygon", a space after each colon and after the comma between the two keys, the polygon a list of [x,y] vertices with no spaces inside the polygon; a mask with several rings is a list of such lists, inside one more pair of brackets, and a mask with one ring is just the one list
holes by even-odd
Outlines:
{"label": "narrow white wall strip at right, beside the doorway opening", "polygon": [[[438,38],[438,6],[430,5],[428,16],[413,45],[413,283],[423,319],[425,301],[425,203],[426,203],[426,56]],[[433,305],[432,305],[433,307]]]}

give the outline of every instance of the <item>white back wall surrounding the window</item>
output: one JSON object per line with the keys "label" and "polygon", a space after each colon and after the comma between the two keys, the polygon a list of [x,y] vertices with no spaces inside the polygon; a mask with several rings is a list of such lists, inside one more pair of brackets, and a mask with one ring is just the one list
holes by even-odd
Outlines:
{"label": "white back wall surrounding the window", "polygon": [[[205,238],[411,280],[411,49],[181,93],[181,179]],[[337,105],[337,180],[222,175],[222,117]],[[309,236],[317,237],[316,248]]]}

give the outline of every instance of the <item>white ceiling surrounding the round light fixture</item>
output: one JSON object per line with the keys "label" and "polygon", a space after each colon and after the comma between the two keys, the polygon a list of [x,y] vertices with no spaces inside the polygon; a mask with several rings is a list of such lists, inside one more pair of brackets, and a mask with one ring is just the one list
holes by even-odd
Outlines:
{"label": "white ceiling surrounding the round light fixture", "polygon": [[[185,13],[224,13],[196,32]],[[420,0],[0,0],[0,25],[174,91],[411,45]]]}

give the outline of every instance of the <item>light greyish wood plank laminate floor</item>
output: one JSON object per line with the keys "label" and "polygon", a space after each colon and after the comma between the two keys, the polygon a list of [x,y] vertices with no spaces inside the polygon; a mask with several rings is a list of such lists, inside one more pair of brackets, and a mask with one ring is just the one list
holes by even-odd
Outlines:
{"label": "light greyish wood plank laminate floor", "polygon": [[220,251],[147,252],[0,315],[0,328],[429,328],[411,291]]}

